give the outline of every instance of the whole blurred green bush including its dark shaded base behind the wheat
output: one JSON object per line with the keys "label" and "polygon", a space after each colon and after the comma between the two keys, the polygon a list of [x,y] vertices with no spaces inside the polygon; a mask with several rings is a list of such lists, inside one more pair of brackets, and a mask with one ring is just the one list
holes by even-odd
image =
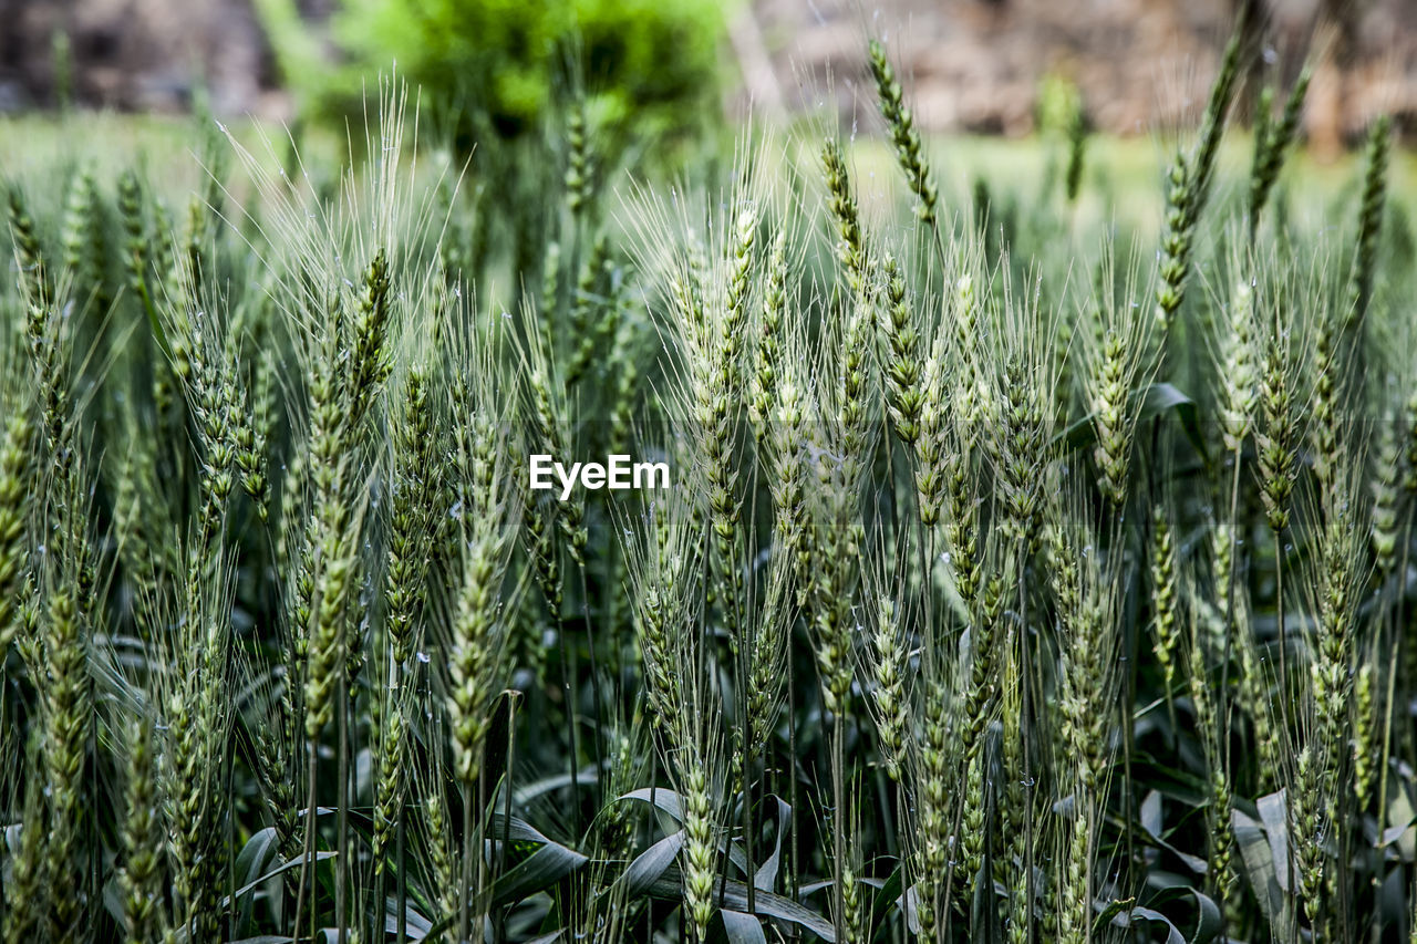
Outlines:
{"label": "whole blurred green bush including its dark shaded base behind the wheat", "polygon": [[451,269],[506,254],[512,272],[541,271],[567,235],[548,207],[571,206],[547,194],[584,200],[616,166],[677,167],[699,132],[723,126],[718,0],[254,4],[298,125],[360,128],[366,91],[394,71],[417,91],[419,139],[453,162],[449,180],[469,160],[459,190],[472,213],[449,225],[469,227],[472,258]]}

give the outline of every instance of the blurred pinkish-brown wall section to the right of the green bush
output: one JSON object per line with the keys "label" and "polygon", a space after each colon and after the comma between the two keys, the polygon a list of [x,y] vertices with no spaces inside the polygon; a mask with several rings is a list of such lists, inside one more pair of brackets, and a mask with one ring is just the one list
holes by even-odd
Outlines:
{"label": "blurred pinkish-brown wall section to the right of the green bush", "polygon": [[[1040,81],[1074,82],[1094,126],[1146,133],[1199,115],[1238,0],[755,0],[740,34],[760,38],[789,103],[863,115],[864,37],[887,40],[920,120],[934,130],[1026,133]],[[1336,147],[1379,112],[1417,125],[1417,0],[1260,0],[1271,41],[1253,78],[1284,88],[1315,35],[1331,55],[1305,116]],[[1321,17],[1319,14],[1323,14]],[[743,44],[737,44],[743,45]],[[752,82],[750,82],[751,85]]]}

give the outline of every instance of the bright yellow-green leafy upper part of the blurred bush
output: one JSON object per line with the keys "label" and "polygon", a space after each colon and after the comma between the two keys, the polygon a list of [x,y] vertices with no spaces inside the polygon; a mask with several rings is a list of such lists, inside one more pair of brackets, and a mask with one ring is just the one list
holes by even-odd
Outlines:
{"label": "bright yellow-green leafy upper part of the blurred bush", "polygon": [[295,0],[255,6],[303,108],[357,112],[360,79],[397,64],[463,149],[489,132],[523,136],[581,95],[602,123],[677,133],[717,86],[716,0],[343,0],[329,21],[337,62]]}

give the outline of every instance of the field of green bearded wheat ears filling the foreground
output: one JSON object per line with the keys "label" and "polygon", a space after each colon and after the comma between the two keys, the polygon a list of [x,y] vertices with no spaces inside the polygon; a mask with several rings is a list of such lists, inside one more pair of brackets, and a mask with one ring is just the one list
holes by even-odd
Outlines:
{"label": "field of green bearded wheat ears filling the foreground", "polygon": [[1417,941],[1406,164],[1220,163],[1238,35],[1155,225],[874,41],[890,181],[395,81],[7,174],[4,941]]}

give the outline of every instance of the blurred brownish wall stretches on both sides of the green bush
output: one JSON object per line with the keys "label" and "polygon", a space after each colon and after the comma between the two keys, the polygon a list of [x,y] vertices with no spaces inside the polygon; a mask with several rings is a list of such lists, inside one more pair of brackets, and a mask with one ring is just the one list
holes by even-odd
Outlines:
{"label": "blurred brownish wall stretches on both sides of the green bush", "polygon": [[[319,21],[333,1],[298,6]],[[846,120],[874,120],[857,95],[874,34],[931,130],[1026,133],[1053,75],[1078,86],[1095,128],[1146,133],[1195,120],[1238,1],[1258,1],[1270,21],[1253,78],[1285,86],[1315,23],[1335,24],[1319,33],[1331,54],[1305,115],[1321,150],[1379,112],[1417,132],[1417,0],[752,0],[730,31],[737,106],[832,102]],[[251,0],[0,0],[0,109],[57,103],[57,30],[81,103],[181,111],[204,88],[218,115],[289,111]]]}

